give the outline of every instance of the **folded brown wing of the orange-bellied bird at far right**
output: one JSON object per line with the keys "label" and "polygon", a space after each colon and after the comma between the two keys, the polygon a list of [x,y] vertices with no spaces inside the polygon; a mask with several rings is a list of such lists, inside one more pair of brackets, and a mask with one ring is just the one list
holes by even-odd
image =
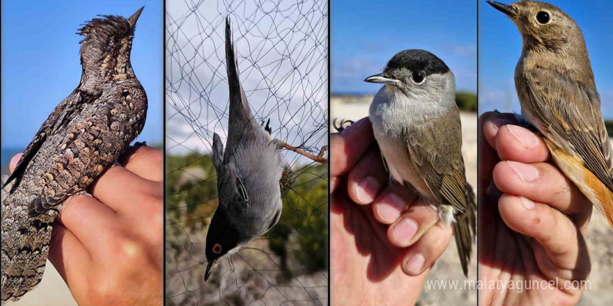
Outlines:
{"label": "folded brown wing of the orange-bellied bird at far right", "polygon": [[[522,107],[533,120],[542,122],[541,126],[535,124],[537,128],[552,143],[582,159],[585,167],[613,191],[611,145],[596,89],[538,68],[525,72],[524,82],[524,99],[529,103]],[[522,81],[517,85],[519,89]]]}

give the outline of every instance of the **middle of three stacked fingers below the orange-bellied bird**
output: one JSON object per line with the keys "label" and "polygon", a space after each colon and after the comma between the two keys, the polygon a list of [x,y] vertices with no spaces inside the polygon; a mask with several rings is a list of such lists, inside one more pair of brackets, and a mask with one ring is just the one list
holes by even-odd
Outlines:
{"label": "middle of three stacked fingers below the orange-bellied bird", "polygon": [[575,184],[550,163],[501,161],[494,168],[494,183],[503,193],[521,195],[570,214],[591,207]]}

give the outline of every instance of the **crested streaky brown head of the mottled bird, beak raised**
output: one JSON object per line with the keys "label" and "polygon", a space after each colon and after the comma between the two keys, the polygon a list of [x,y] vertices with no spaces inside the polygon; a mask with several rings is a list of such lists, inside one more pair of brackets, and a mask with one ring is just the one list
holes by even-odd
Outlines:
{"label": "crested streaky brown head of the mottled bird, beak raised", "polygon": [[115,80],[134,77],[130,51],[143,8],[128,18],[104,15],[79,29],[77,34],[85,36],[81,41],[81,65],[87,77]]}

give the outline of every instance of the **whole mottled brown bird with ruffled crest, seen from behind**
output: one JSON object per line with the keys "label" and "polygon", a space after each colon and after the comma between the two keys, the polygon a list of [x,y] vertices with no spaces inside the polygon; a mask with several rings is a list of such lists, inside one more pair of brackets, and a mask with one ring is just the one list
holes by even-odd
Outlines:
{"label": "whole mottled brown bird with ruffled crest, seen from behind", "polygon": [[42,124],[3,186],[13,183],[2,203],[2,301],[40,282],[62,202],[85,191],[143,129],[147,97],[130,64],[142,10],[79,29],[81,82]]}

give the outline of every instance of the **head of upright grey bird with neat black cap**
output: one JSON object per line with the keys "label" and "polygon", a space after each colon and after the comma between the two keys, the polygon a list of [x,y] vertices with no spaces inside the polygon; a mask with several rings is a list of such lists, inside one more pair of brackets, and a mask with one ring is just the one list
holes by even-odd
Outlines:
{"label": "head of upright grey bird with neat black cap", "polygon": [[398,52],[387,62],[383,73],[364,81],[386,84],[415,95],[419,92],[455,90],[455,79],[449,67],[434,54],[418,49]]}

